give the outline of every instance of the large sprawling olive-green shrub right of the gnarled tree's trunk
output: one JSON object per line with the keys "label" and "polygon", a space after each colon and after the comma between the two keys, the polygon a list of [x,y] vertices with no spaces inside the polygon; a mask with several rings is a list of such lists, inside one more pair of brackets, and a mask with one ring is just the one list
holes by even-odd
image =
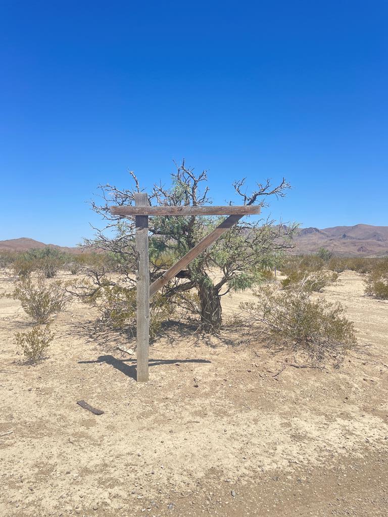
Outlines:
{"label": "large sprawling olive-green shrub right of the gnarled tree's trunk", "polygon": [[258,302],[241,304],[250,326],[265,327],[272,337],[293,351],[307,353],[313,363],[327,358],[338,366],[356,345],[353,323],[344,308],[324,298],[312,300],[301,286],[284,291],[264,286],[255,293]]}

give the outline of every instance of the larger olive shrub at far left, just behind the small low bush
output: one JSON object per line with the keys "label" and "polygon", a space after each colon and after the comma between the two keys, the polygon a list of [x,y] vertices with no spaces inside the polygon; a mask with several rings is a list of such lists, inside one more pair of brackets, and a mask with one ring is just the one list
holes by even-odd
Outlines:
{"label": "larger olive shrub at far left, just behind the small low bush", "polygon": [[22,277],[8,297],[20,300],[25,312],[40,324],[47,323],[50,316],[62,311],[69,302],[62,282],[49,284],[43,275],[34,280],[31,276]]}

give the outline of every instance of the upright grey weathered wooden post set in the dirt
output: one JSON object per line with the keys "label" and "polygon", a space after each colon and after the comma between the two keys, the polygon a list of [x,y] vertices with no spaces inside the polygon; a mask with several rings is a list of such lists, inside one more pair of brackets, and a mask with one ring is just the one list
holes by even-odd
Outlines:
{"label": "upright grey weathered wooden post set in the dirt", "polygon": [[[136,206],[147,206],[145,193],[135,194]],[[148,381],[148,345],[150,343],[150,261],[148,257],[148,216],[136,216],[136,335],[137,381]]]}

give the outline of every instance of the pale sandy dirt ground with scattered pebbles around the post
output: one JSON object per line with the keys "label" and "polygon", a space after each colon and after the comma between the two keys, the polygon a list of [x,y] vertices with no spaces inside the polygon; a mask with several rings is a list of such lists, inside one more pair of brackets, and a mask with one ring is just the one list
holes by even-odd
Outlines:
{"label": "pale sandy dirt ground with scattered pebbles around the post", "polygon": [[[325,296],[366,345],[340,370],[274,377],[285,357],[259,337],[176,325],[153,343],[146,384],[125,338],[91,337],[77,304],[55,318],[49,358],[26,366],[13,336],[31,320],[0,299],[0,515],[387,515],[388,302],[349,271]],[[250,297],[223,297],[225,315]]]}

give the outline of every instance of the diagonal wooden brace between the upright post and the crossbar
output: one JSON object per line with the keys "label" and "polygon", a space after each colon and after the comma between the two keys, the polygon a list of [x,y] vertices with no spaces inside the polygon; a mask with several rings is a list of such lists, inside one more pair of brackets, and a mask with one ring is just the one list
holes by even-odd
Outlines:
{"label": "diagonal wooden brace between the upright post and the crossbar", "polygon": [[[248,208],[248,207],[247,207]],[[258,208],[258,207],[256,207]],[[260,208],[260,207],[259,207]],[[170,267],[163,275],[155,280],[150,285],[150,297],[154,296],[154,294],[161,288],[163,285],[166,285],[171,279],[177,275],[178,272],[182,271],[191,261],[193,261],[200,253],[205,251],[206,248],[211,246],[213,242],[215,242],[218,237],[220,237],[223,233],[227,232],[236,222],[238,222],[243,215],[233,215],[229,216],[219,224],[213,232],[206,235],[196,246],[194,246],[190,251],[186,253],[180,260],[178,260],[173,266]]]}

